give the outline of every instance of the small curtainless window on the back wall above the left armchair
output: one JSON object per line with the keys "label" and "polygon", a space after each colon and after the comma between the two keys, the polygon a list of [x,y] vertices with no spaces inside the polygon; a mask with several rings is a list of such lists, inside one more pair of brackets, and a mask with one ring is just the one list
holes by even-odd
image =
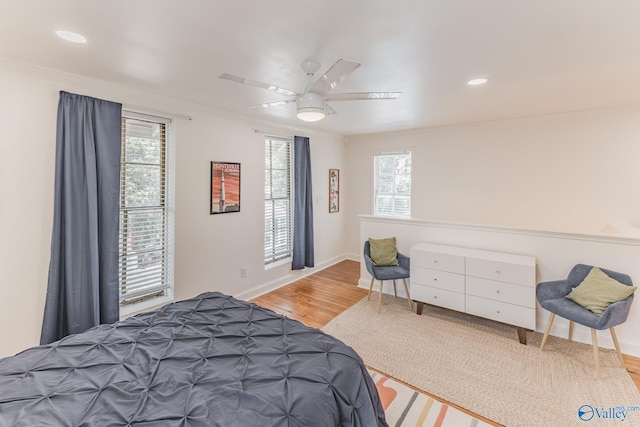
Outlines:
{"label": "small curtainless window on the back wall above the left armchair", "polygon": [[411,152],[374,156],[373,214],[411,216]]}

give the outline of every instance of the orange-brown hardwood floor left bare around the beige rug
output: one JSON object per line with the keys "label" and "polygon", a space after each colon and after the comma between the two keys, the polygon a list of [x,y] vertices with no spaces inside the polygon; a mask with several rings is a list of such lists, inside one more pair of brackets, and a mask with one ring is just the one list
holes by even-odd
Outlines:
{"label": "orange-brown hardwood floor left bare around the beige rug", "polygon": [[[342,261],[252,301],[321,328],[367,295],[367,290],[357,287],[359,277],[359,262]],[[624,355],[624,365],[640,390],[640,358]]]}

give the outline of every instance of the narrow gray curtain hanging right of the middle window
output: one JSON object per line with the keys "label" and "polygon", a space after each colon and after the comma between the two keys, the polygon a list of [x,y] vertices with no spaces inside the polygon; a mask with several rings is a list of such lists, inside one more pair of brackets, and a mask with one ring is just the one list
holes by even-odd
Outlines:
{"label": "narrow gray curtain hanging right of the middle window", "polygon": [[311,150],[309,138],[293,140],[293,260],[292,270],[313,267],[313,194],[311,191]]}

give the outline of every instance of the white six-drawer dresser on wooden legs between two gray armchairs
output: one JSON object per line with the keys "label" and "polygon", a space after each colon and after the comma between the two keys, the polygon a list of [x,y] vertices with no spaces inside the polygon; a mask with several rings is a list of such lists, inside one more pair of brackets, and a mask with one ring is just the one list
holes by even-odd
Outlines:
{"label": "white six-drawer dresser on wooden legs between two gray armchairs", "polygon": [[536,327],[536,259],[456,246],[411,248],[411,298],[516,326],[520,342]]}

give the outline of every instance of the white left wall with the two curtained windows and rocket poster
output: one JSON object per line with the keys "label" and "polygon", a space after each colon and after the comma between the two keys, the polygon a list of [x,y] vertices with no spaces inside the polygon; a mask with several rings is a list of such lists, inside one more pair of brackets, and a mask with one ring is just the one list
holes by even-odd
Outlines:
{"label": "white left wall with the two curtained windows and rocket poster", "polygon": [[[263,266],[264,148],[255,129],[271,130],[180,100],[0,60],[0,357],[38,344],[50,256],[58,92],[125,106],[189,115],[175,120],[176,298],[205,291],[251,297],[307,272]],[[344,212],[329,214],[328,170],[343,169],[342,137],[311,138],[316,196],[316,265],[345,256]],[[209,215],[209,162],[242,165],[241,212]],[[344,178],[343,178],[344,182]],[[240,278],[240,267],[248,277]],[[266,285],[265,285],[266,284]]]}

